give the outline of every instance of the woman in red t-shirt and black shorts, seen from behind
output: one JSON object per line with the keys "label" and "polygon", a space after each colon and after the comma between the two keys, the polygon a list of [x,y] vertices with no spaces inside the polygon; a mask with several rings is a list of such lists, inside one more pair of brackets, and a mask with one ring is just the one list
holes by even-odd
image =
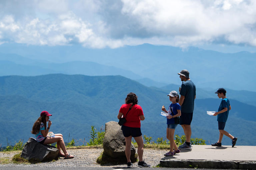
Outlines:
{"label": "woman in red t-shirt and black shorts, seen from behind", "polygon": [[[122,116],[126,119],[126,122],[122,125],[122,131],[125,138],[125,155],[127,158],[127,167],[133,166],[130,160],[131,156],[131,143],[132,137],[138,144],[138,156],[139,156],[139,167],[150,167],[146,162],[143,161],[143,138],[140,130],[140,121],[145,120],[142,108],[138,104],[136,94],[129,93],[119,110],[117,118],[120,119]],[[130,109],[131,108],[131,109]],[[130,110],[129,110],[130,109]]]}

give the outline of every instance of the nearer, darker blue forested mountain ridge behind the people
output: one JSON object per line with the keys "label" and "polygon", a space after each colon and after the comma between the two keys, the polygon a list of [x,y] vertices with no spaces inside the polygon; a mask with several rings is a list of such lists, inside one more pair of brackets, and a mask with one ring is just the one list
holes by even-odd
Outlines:
{"label": "nearer, darker blue forested mountain ridge behind the people", "polygon": [[[172,90],[177,91],[178,87],[175,84],[161,88],[147,87],[123,76],[1,76],[0,143],[6,146],[6,138],[14,144],[19,139],[26,141],[33,136],[30,133],[33,123],[43,110],[53,115],[50,117],[51,131],[62,133],[65,141],[69,134],[69,140],[89,141],[91,125],[100,129],[104,128],[106,122],[118,121],[119,108],[129,92],[136,93],[146,117],[141,122],[143,135],[152,136],[153,139],[165,137],[166,118],[159,114],[162,105],[170,104],[167,94]],[[225,129],[238,137],[237,145],[255,145],[256,137],[251,132],[256,130],[256,106],[248,102],[255,101],[255,92],[244,91],[242,97],[240,91],[227,90],[227,94],[232,110]],[[193,138],[203,138],[207,144],[217,141],[217,118],[207,115],[206,111],[216,111],[220,101],[214,90],[197,88],[191,124]],[[184,132],[178,126],[175,133],[183,135]],[[230,145],[231,140],[223,137],[222,143]]]}

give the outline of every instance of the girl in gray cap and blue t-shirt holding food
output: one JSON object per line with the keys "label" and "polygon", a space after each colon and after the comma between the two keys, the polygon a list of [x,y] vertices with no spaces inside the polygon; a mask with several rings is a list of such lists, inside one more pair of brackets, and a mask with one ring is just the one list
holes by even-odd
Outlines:
{"label": "girl in gray cap and blue t-shirt holding food", "polygon": [[[179,95],[176,91],[171,91],[168,94],[169,100],[172,102],[169,106],[168,111],[162,106],[162,111],[168,113],[167,116],[167,128],[166,128],[166,138],[170,141],[170,151],[165,153],[164,156],[173,156],[176,153],[179,153],[180,150],[178,149],[175,141],[174,141],[174,131],[175,128],[178,126],[179,122],[175,121],[176,117],[181,115],[180,112],[180,105],[179,105]],[[177,118],[176,118],[177,119]]]}

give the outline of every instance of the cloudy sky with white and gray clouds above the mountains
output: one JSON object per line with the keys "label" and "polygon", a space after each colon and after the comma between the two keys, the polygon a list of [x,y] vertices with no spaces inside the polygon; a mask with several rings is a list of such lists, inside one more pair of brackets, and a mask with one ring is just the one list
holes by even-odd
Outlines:
{"label": "cloudy sky with white and gray clouds above the mountains", "polygon": [[1,0],[0,44],[256,52],[252,0]]}

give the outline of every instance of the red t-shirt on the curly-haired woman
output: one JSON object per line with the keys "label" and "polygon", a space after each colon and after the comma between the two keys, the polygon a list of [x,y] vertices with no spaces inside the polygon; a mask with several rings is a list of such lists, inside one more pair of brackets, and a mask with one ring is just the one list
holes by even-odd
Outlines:
{"label": "red t-shirt on the curly-haired woman", "polygon": [[[123,117],[126,119],[124,126],[131,128],[140,128],[140,116],[144,115],[140,105],[133,105],[132,109],[128,112],[131,104],[123,104],[119,112],[123,113]],[[128,112],[128,115],[126,116]]]}

